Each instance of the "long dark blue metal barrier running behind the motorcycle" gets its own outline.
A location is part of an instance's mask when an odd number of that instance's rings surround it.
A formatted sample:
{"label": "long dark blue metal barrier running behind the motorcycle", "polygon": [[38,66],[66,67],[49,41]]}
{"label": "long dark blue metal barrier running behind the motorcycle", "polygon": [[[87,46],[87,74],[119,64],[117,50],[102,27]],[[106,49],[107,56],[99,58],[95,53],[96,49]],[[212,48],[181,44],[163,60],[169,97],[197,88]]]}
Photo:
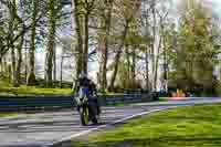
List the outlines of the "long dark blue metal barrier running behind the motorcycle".
{"label": "long dark blue metal barrier running behind the motorcycle", "polygon": [[[127,103],[150,102],[152,95],[98,95],[101,105],[115,105]],[[75,106],[74,96],[38,96],[38,97],[10,97],[0,96],[0,111],[32,109],[42,107],[73,107]]]}

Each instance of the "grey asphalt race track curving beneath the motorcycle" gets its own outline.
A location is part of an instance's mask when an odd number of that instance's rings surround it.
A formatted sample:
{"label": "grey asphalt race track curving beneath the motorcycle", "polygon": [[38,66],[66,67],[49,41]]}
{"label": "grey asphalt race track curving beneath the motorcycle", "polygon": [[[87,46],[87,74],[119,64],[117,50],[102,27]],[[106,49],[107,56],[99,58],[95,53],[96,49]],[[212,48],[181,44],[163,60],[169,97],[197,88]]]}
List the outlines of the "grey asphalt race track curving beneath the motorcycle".
{"label": "grey asphalt race track curving beneath the motorcycle", "polygon": [[[189,98],[157,103],[134,104],[119,107],[103,107],[101,125],[83,127],[75,111],[39,113],[14,118],[0,119],[0,147],[49,147],[61,140],[84,135],[99,126],[124,120],[131,116],[166,108],[221,103],[221,98]],[[87,132],[90,130],[90,132]]]}

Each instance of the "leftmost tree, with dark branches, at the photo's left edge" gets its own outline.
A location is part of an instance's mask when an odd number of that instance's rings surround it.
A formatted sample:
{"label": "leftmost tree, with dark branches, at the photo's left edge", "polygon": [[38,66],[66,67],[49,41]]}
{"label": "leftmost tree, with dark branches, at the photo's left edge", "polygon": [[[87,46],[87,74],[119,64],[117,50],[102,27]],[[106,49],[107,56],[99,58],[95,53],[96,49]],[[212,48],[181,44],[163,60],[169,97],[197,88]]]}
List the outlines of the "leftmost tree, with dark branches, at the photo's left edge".
{"label": "leftmost tree, with dark branches, at the photo's left edge", "polygon": [[20,84],[20,73],[21,73],[21,62],[22,62],[21,50],[23,45],[23,36],[24,36],[23,32],[25,28],[23,20],[19,15],[19,7],[18,7],[19,2],[20,1],[15,0],[1,1],[1,3],[4,4],[6,9],[8,10],[9,14],[9,19],[7,19],[8,21],[2,22],[7,29],[4,29],[3,31],[4,38],[2,38],[1,57],[3,57],[10,50],[11,63],[12,63],[11,78],[12,78],[12,85],[14,86],[19,86]]}

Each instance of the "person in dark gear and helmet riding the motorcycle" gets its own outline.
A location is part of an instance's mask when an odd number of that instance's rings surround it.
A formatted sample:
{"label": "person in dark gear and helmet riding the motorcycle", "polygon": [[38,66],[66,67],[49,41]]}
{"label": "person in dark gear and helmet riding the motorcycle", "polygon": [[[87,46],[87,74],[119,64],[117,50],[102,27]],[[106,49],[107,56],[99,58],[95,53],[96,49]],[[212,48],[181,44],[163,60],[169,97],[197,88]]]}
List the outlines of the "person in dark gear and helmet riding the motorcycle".
{"label": "person in dark gear and helmet riding the motorcycle", "polygon": [[98,99],[96,95],[96,84],[93,81],[91,81],[84,72],[80,74],[80,77],[77,80],[77,86],[76,86],[76,92],[78,93],[78,96],[76,97],[77,111],[80,111],[80,104],[81,104],[80,99],[84,96],[83,95],[84,93],[82,92],[83,87],[88,88],[90,91],[88,98],[91,98],[95,103],[98,115],[99,115],[101,108],[99,108],[99,104],[98,104]]}

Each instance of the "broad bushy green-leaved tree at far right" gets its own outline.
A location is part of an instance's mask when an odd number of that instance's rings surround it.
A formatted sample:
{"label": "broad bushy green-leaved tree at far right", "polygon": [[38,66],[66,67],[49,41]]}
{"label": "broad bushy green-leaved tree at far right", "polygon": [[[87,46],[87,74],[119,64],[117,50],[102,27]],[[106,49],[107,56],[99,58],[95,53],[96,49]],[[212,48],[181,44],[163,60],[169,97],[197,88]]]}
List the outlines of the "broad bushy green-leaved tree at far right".
{"label": "broad bushy green-leaved tree at far right", "polygon": [[[188,1],[178,31],[178,48],[173,65],[178,87],[193,90],[201,86],[204,93],[212,88],[217,49],[209,11],[194,0]],[[206,13],[207,12],[207,13]]]}

